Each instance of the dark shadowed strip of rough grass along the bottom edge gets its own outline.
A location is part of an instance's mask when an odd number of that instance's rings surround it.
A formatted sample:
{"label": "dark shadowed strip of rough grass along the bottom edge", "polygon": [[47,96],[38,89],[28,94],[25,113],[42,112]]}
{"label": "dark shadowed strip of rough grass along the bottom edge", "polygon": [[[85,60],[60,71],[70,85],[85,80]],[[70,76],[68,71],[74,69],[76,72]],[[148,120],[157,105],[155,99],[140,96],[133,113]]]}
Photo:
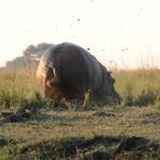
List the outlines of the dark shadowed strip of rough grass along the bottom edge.
{"label": "dark shadowed strip of rough grass along the bottom edge", "polygon": [[144,137],[82,136],[43,139],[31,144],[6,144],[0,157],[15,159],[159,159],[160,144]]}

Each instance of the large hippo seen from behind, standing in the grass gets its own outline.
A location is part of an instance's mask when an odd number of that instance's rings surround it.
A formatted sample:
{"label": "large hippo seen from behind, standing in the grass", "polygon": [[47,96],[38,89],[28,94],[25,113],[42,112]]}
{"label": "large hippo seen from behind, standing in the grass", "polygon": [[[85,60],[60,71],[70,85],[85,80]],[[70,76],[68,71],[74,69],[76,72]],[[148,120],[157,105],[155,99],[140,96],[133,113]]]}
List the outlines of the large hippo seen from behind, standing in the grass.
{"label": "large hippo seen from behind, standing in the grass", "polygon": [[82,106],[89,99],[120,104],[110,71],[85,49],[63,42],[49,48],[42,55],[37,80],[43,95],[59,104],[75,99]]}

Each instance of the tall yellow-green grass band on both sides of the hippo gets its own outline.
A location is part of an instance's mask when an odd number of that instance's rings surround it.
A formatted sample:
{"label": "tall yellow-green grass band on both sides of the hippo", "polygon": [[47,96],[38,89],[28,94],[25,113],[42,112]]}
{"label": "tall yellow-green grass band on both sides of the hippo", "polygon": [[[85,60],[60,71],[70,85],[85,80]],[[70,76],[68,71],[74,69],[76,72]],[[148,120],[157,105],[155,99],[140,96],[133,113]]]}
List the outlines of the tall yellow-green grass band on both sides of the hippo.
{"label": "tall yellow-green grass band on both sides of the hippo", "polygon": [[[116,90],[124,106],[160,105],[160,70],[114,70]],[[0,71],[0,108],[21,105],[45,106],[40,96],[34,70]]]}

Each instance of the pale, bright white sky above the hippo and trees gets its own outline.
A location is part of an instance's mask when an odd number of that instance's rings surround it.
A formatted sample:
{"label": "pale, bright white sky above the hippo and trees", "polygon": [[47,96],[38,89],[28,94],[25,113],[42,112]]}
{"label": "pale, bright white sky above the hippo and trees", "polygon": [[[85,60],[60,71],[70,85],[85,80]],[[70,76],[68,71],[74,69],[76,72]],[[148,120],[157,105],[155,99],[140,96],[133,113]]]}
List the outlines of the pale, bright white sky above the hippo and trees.
{"label": "pale, bright white sky above the hippo and trees", "polygon": [[160,67],[160,1],[0,0],[0,66],[30,44],[65,41],[108,67]]}

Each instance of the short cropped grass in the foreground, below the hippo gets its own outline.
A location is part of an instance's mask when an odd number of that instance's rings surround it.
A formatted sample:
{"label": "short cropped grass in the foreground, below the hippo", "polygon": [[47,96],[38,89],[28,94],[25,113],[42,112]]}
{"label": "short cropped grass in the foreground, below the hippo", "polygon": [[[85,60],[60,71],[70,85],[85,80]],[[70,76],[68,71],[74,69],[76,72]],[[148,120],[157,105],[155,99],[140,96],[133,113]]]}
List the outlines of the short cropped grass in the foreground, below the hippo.
{"label": "short cropped grass in the foreground, below the hippo", "polygon": [[[111,112],[114,116],[101,116]],[[111,159],[124,137],[136,136],[130,151],[116,156],[158,159],[160,154],[158,107],[104,107],[88,111],[46,110],[19,123],[2,123],[0,136],[10,141],[1,147],[4,159]],[[143,143],[145,139],[145,143]],[[138,141],[138,142],[139,142]],[[13,142],[15,142],[13,144]]]}

